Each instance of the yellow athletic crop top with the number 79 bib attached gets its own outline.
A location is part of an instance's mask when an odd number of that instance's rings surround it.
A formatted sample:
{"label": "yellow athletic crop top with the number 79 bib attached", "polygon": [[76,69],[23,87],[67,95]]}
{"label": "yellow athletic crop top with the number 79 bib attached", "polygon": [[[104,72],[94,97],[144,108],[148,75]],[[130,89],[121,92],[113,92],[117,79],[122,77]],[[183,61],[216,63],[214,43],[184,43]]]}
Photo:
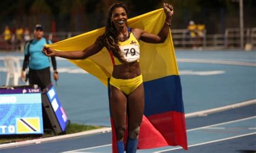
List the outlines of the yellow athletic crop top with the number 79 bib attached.
{"label": "yellow athletic crop top with the number 79 bib attached", "polygon": [[[130,32],[129,39],[118,42],[120,50],[127,62],[139,61],[139,41]],[[113,65],[123,64],[118,58],[114,57],[112,51],[109,52]]]}

